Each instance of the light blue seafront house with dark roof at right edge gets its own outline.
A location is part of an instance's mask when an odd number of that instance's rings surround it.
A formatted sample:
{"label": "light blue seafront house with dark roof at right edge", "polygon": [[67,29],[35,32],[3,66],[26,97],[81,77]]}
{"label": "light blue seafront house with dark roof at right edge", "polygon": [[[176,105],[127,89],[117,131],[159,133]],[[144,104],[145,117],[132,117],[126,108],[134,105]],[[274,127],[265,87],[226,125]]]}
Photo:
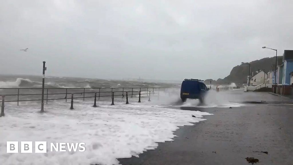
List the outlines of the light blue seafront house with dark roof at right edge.
{"label": "light blue seafront house with dark roof at right edge", "polygon": [[291,84],[291,73],[293,72],[293,50],[284,50],[283,63],[277,68],[277,83]]}

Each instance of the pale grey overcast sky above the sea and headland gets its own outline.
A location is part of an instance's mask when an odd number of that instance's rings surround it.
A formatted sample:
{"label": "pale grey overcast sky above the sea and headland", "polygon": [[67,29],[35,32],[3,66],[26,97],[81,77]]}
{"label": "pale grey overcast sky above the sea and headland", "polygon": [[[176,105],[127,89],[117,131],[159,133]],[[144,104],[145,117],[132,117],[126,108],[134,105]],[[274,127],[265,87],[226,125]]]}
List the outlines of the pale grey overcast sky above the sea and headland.
{"label": "pale grey overcast sky above the sea and headland", "polygon": [[0,74],[218,79],[293,49],[291,0],[0,3]]}

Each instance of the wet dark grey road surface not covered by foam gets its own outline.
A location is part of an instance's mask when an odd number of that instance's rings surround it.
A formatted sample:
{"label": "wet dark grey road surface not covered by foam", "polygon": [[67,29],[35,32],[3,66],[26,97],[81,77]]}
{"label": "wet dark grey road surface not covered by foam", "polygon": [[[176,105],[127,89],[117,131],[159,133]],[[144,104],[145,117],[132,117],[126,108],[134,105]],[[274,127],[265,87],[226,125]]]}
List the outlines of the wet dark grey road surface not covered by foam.
{"label": "wet dark grey road surface not covered by foam", "polygon": [[[243,91],[242,91],[243,92]],[[265,92],[241,94],[242,100],[287,101]],[[240,98],[240,97],[239,97]],[[233,101],[237,101],[233,97]],[[256,100],[256,99],[255,99]],[[205,121],[180,127],[172,142],[159,143],[155,150],[119,159],[123,165],[248,164],[246,157],[259,159],[257,164],[293,165],[293,105],[245,104],[232,108],[173,107],[209,112]],[[267,151],[268,154],[254,151]]]}

